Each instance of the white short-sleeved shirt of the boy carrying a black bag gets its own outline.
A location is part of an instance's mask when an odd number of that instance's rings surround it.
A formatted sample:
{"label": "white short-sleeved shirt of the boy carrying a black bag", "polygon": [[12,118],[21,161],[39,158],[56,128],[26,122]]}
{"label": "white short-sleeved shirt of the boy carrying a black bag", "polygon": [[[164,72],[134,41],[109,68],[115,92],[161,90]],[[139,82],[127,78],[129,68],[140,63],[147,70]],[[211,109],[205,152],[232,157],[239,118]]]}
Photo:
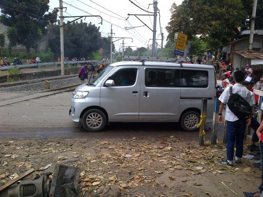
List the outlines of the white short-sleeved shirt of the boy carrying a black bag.
{"label": "white short-sleeved shirt of the boy carrying a black bag", "polygon": [[[245,88],[242,84],[235,84],[232,90],[233,94],[239,94],[244,98],[244,100],[247,103],[249,103],[250,106],[253,106],[253,101],[255,101],[255,98],[253,99],[250,92],[251,91],[247,90],[247,88]],[[227,87],[219,97],[219,100],[222,103],[226,104],[229,96],[230,96],[230,87]],[[225,120],[230,122],[239,120],[239,118],[228,108],[227,104],[225,108]]]}

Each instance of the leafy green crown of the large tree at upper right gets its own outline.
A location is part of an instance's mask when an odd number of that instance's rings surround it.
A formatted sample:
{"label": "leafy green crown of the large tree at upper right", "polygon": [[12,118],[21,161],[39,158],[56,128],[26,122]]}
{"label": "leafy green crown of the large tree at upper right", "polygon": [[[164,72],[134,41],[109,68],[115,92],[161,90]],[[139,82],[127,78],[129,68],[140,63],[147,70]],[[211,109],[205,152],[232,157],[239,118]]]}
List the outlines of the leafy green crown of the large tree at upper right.
{"label": "leafy green crown of the large tree at upper right", "polygon": [[[183,32],[188,39],[196,35],[206,40],[209,47],[231,41],[238,33],[237,27],[247,28],[248,9],[244,10],[244,2],[251,5],[253,0],[183,0],[181,5],[173,3],[171,18],[166,27],[169,39],[174,33]],[[262,4],[262,3],[260,3]],[[246,11],[247,10],[247,11]],[[252,10],[252,9],[251,9]]]}

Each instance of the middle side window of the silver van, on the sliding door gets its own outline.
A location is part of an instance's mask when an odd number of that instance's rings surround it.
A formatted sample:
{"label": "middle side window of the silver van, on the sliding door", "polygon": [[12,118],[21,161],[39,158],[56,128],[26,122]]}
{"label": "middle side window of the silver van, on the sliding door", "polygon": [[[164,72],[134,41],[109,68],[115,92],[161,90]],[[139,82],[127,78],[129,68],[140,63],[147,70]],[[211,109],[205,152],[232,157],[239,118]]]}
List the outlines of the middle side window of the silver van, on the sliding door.
{"label": "middle side window of the silver van, on the sliding door", "polygon": [[146,87],[175,88],[180,84],[180,71],[175,69],[145,69]]}

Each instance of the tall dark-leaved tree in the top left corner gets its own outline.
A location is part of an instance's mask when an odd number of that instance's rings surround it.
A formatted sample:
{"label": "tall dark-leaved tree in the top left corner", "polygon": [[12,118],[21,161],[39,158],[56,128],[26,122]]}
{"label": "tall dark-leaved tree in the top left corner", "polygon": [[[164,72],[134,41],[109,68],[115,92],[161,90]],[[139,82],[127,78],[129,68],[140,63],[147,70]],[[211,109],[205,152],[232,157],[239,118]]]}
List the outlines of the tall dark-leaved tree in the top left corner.
{"label": "tall dark-leaved tree in the top left corner", "polygon": [[48,3],[49,0],[1,0],[0,22],[12,28],[7,37],[13,44],[24,46],[27,54],[30,48],[37,50],[47,25],[56,22],[57,10],[48,12]]}

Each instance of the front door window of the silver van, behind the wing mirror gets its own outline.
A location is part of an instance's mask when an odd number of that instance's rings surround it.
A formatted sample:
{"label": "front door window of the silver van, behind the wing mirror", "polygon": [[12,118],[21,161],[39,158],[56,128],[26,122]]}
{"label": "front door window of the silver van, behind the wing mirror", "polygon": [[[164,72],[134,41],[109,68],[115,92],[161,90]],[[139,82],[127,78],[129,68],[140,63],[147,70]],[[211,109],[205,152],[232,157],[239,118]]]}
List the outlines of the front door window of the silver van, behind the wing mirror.
{"label": "front door window of the silver van, behind the wing mirror", "polygon": [[137,77],[137,69],[136,68],[126,68],[120,69],[115,72],[108,79],[114,81],[114,86],[132,86],[135,84]]}

